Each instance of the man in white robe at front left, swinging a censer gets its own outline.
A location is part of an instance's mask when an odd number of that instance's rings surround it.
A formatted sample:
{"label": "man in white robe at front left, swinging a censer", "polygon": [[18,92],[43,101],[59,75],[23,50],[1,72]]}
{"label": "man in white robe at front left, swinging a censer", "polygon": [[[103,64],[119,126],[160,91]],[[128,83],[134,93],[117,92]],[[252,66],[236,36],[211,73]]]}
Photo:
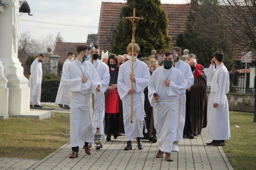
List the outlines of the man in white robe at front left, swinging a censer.
{"label": "man in white robe at front left, swinging a censer", "polygon": [[63,71],[61,82],[72,92],[70,99],[70,158],[78,157],[80,146],[85,145],[85,153],[90,155],[89,143],[94,142],[94,125],[92,120],[91,93],[100,93],[100,76],[91,62],[91,47],[79,45],[76,48],[78,57],[70,62]]}

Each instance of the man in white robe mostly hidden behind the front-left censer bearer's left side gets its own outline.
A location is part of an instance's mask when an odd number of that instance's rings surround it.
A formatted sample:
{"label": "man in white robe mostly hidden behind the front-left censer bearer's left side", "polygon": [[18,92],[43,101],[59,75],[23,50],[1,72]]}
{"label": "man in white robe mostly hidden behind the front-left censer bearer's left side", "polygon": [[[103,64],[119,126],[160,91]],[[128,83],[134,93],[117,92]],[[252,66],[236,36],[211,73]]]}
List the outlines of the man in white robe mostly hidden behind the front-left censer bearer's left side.
{"label": "man in white robe mostly hidden behind the front-left censer bearer's left side", "polygon": [[[73,61],[75,59],[75,55],[73,52],[69,52],[68,53],[68,58],[67,60],[64,62],[63,66],[62,66],[62,72],[63,70],[68,66],[68,64]],[[61,76],[62,77],[62,76]],[[59,107],[61,107],[62,109],[70,109],[69,105],[70,105],[70,99],[67,97],[68,95],[68,89],[65,88],[61,81],[59,83],[59,89],[58,89],[58,93],[56,96],[56,100],[55,100],[55,105],[58,105]],[[63,106],[64,105],[64,106]]]}

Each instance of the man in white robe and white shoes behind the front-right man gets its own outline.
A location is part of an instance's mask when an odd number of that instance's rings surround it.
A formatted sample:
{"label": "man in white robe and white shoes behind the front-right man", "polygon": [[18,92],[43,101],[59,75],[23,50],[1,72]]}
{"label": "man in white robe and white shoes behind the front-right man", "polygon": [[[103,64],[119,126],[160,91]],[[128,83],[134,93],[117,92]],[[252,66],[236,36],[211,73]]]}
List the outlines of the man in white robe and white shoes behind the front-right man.
{"label": "man in white robe and white shoes behind the front-right man", "polygon": [[[177,61],[175,62],[175,68],[181,71],[181,73],[184,75],[184,77],[187,80],[187,87],[186,89],[190,88],[194,84],[194,76],[191,71],[190,66],[182,61],[180,59],[181,57],[181,48],[180,47],[172,47],[171,51],[175,50],[178,58]],[[179,128],[176,133],[176,138],[173,142],[172,145],[172,151],[173,152],[179,152],[179,142],[182,141],[183,139],[183,129],[185,126],[185,118],[186,118],[186,89],[184,92],[179,96]]]}

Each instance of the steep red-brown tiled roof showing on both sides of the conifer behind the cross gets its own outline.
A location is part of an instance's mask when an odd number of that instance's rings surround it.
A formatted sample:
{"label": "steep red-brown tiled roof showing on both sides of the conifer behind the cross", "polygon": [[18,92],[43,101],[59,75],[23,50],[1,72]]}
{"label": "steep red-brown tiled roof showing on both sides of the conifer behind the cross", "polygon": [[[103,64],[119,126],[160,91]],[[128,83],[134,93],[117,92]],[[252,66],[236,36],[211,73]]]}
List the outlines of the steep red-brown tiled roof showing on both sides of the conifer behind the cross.
{"label": "steep red-brown tiled roof showing on both sides of the conifer behind the cross", "polygon": [[[120,13],[126,3],[102,2],[99,22],[99,46],[104,51],[111,51],[113,29],[118,25]],[[172,37],[172,45],[176,43],[176,37],[186,29],[186,21],[190,4],[162,4],[169,19],[168,34]],[[111,16],[111,17],[110,17]]]}

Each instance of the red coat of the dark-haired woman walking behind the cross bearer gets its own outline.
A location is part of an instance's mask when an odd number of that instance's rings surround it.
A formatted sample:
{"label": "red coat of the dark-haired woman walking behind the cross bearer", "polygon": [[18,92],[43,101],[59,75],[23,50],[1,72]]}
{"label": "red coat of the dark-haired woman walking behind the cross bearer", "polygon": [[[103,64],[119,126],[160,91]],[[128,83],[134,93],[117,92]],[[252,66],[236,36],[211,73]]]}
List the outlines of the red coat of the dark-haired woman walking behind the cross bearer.
{"label": "red coat of the dark-haired woman walking behind the cross bearer", "polygon": [[[109,68],[110,72],[116,72]],[[118,72],[118,70],[117,70]],[[105,113],[119,113],[119,95],[117,88],[115,90],[108,90],[106,96]]]}

